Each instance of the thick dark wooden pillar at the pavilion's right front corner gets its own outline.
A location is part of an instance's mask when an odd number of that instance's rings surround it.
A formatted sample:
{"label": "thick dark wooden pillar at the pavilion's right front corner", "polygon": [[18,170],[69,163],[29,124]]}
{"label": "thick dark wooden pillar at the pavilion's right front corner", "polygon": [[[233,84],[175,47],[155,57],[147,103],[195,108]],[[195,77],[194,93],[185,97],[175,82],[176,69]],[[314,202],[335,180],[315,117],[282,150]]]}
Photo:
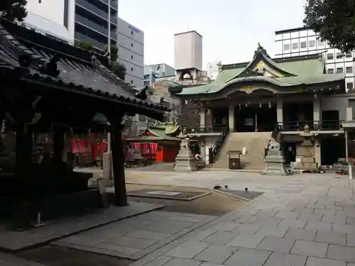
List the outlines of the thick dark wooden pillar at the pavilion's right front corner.
{"label": "thick dark wooden pillar at the pavilion's right front corner", "polygon": [[[116,120],[119,120],[116,118]],[[127,206],[126,178],[124,176],[124,145],[121,138],[123,125],[112,125],[111,150],[114,172],[114,198],[116,206]]]}

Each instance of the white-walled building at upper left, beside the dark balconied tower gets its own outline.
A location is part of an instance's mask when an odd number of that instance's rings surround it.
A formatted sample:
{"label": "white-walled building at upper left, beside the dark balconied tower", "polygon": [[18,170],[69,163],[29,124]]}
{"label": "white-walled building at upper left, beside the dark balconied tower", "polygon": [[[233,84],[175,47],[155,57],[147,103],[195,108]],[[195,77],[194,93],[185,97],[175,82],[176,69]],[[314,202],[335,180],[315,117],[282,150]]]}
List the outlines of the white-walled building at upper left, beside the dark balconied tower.
{"label": "white-walled building at upper left, beside the dark balconied tower", "polygon": [[75,0],[28,0],[24,26],[74,43]]}

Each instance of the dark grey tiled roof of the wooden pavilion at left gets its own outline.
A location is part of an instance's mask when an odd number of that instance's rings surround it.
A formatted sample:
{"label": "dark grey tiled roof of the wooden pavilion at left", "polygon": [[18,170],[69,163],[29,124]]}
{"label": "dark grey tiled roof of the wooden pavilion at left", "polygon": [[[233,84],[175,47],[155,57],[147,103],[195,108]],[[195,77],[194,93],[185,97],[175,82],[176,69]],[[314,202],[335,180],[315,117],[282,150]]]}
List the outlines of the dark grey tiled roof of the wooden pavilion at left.
{"label": "dark grey tiled roof of the wooden pavilion at left", "polygon": [[[28,55],[32,60],[31,71],[28,75],[33,79],[57,83],[62,86],[82,90],[82,92],[106,96],[109,99],[118,99],[128,104],[145,106],[146,108],[153,109],[152,111],[168,111],[168,109],[160,104],[153,104],[149,100],[142,101],[136,98],[133,94],[134,90],[126,89],[127,85],[102,64],[97,57],[93,55],[87,56],[90,53],[89,51],[70,47],[70,50],[77,49],[80,51],[77,53],[77,57],[65,52],[58,52],[48,45],[50,41],[53,42],[55,40],[45,37],[48,43],[43,43],[43,40],[38,43],[36,38],[28,39],[28,36],[31,35],[28,31],[33,36],[40,34],[18,26],[15,23],[9,23],[9,21],[0,21],[0,67],[19,67],[18,57]],[[38,38],[43,38],[43,36]],[[68,44],[57,41],[56,45]],[[60,60],[56,64],[60,71],[58,77],[41,74],[40,67],[55,55],[60,55]]]}

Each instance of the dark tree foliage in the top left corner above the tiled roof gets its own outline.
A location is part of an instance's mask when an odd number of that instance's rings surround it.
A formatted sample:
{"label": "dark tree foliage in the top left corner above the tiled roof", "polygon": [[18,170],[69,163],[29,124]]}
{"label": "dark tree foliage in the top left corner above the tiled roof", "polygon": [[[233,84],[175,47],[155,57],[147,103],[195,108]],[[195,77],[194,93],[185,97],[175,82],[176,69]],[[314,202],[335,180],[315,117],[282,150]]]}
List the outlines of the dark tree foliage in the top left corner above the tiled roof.
{"label": "dark tree foliage in the top left corner above the tiled roof", "polygon": [[27,0],[0,0],[0,18],[23,21],[27,16]]}

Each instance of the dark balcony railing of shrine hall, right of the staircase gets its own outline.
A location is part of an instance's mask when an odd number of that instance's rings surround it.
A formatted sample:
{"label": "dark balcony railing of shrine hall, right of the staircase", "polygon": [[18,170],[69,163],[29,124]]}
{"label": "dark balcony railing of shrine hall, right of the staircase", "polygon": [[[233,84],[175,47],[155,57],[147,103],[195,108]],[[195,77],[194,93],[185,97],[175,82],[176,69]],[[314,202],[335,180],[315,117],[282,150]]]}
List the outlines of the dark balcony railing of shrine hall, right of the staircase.
{"label": "dark balcony railing of shrine hall, right of the staircase", "polygon": [[342,129],[341,120],[287,121],[278,123],[281,131],[304,131],[305,125],[310,127],[310,131],[339,131]]}

